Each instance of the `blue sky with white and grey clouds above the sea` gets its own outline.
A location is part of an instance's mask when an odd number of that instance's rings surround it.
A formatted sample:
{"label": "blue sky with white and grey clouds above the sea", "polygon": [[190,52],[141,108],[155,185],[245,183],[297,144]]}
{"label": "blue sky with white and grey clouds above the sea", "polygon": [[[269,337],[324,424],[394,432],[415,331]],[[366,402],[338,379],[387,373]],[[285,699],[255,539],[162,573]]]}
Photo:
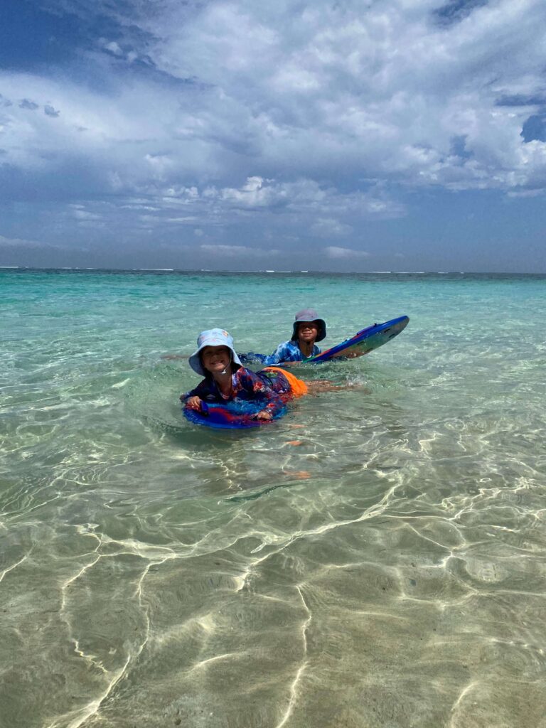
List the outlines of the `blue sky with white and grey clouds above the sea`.
{"label": "blue sky with white and grey clouds above the sea", "polygon": [[0,264],[546,272],[544,0],[17,0]]}

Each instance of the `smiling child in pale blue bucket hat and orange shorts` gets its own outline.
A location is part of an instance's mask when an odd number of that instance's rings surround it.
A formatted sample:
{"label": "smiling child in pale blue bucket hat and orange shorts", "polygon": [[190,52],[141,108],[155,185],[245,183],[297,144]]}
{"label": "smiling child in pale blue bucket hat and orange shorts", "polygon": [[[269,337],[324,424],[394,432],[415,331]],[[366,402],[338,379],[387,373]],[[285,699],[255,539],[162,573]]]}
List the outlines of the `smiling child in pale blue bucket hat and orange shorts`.
{"label": "smiling child in pale blue bucket hat and orange shorts", "polygon": [[233,348],[233,338],[221,328],[202,331],[189,365],[205,377],[197,387],[181,396],[190,409],[200,410],[202,402],[225,403],[235,397],[264,400],[264,409],[256,419],[272,419],[286,400],[307,391],[306,384],[293,374],[266,368],[256,374],[242,366]]}

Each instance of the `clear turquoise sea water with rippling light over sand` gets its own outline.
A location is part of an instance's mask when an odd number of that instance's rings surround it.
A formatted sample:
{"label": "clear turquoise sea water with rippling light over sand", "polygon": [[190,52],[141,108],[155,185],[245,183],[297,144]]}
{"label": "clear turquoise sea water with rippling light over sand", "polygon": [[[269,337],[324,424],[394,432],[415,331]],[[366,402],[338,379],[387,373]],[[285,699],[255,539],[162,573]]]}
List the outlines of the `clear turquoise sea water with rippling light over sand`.
{"label": "clear turquoise sea water with rippling light over sand", "polygon": [[[0,272],[0,724],[537,728],[546,277]],[[192,427],[314,306],[357,389]]]}

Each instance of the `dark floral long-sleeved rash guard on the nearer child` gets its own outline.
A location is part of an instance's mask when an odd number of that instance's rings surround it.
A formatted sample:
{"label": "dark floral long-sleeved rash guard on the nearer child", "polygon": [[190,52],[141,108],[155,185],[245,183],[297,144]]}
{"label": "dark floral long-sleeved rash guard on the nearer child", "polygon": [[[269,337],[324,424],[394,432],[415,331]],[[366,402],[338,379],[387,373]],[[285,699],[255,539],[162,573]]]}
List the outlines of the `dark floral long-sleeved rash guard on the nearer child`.
{"label": "dark floral long-sleeved rash guard on the nearer child", "polygon": [[224,397],[212,376],[205,377],[197,387],[182,395],[181,400],[189,397],[199,397],[204,402],[219,404],[232,402],[234,399],[263,400],[264,410],[273,415],[290,398],[290,384],[280,372],[255,374],[241,366],[232,373],[232,394],[229,397]]}

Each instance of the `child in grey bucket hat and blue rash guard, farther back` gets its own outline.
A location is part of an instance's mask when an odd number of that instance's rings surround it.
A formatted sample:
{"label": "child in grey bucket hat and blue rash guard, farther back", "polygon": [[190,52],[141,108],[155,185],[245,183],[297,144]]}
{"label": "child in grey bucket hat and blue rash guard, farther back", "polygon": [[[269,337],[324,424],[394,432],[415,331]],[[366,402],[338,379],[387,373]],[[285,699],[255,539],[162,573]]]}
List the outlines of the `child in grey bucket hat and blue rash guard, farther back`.
{"label": "child in grey bucket hat and blue rash guard, farther back", "polygon": [[279,344],[277,349],[266,356],[249,352],[243,357],[244,362],[258,361],[268,366],[281,362],[304,362],[309,357],[320,354],[320,347],[315,341],[326,338],[326,323],[314,309],[301,309],[294,317],[290,341]]}

